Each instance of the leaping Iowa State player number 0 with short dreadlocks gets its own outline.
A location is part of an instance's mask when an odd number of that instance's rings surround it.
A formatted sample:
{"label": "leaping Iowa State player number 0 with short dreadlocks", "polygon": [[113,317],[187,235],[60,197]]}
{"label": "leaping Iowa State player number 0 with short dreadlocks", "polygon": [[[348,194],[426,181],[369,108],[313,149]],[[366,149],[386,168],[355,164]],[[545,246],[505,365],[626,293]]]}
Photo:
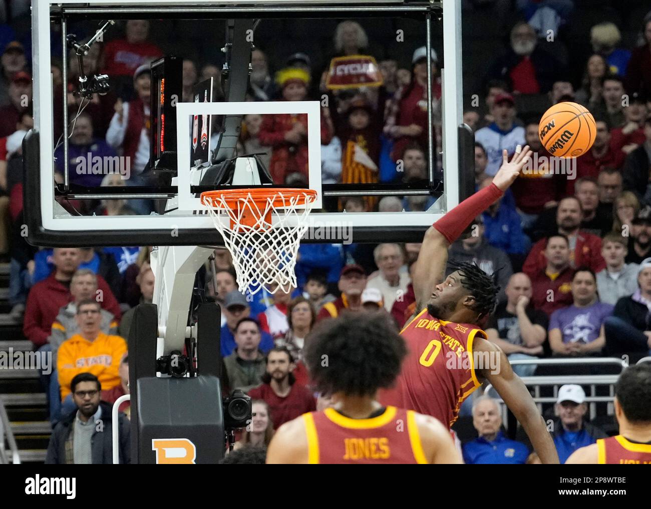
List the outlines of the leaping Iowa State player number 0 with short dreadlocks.
{"label": "leaping Iowa State player number 0 with short dreadlocks", "polygon": [[520,149],[511,161],[503,151],[503,164],[493,183],[426,231],[414,267],[416,312],[401,332],[409,354],[395,387],[382,391],[378,400],[433,415],[452,426],[465,398],[488,380],[522,424],[540,460],[558,463],[554,443],[527,387],[479,326],[497,304],[499,287],[493,276],[474,263],[457,263],[456,270],[443,277],[450,244],[504,194],[529,160],[529,147]]}

